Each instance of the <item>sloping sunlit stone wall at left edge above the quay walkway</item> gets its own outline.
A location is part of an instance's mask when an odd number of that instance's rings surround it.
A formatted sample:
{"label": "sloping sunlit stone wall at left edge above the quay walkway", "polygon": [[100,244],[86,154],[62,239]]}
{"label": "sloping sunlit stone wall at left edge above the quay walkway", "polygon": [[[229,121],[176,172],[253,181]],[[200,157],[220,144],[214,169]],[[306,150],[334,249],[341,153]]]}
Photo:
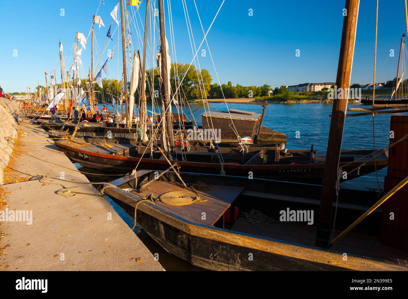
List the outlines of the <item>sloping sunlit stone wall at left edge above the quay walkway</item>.
{"label": "sloping sunlit stone wall at left edge above the quay walkway", "polygon": [[18,110],[17,101],[0,98],[0,184],[4,182],[3,169],[9,164],[17,137],[17,123],[11,111]]}

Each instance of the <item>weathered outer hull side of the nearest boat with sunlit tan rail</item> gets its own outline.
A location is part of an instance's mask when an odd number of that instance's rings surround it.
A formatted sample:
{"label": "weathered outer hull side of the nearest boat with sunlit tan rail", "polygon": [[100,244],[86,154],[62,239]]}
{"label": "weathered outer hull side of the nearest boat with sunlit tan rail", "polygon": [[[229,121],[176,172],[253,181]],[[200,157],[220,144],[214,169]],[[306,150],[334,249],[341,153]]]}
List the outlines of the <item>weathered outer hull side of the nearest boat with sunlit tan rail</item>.
{"label": "weathered outer hull side of the nearest boat with sunlit tan rail", "polygon": [[[130,180],[111,183],[128,188]],[[104,193],[134,217],[141,198],[114,188]],[[192,223],[150,203],[137,206],[137,223],[172,255],[208,270],[406,270],[351,253],[344,262],[343,252]]]}

